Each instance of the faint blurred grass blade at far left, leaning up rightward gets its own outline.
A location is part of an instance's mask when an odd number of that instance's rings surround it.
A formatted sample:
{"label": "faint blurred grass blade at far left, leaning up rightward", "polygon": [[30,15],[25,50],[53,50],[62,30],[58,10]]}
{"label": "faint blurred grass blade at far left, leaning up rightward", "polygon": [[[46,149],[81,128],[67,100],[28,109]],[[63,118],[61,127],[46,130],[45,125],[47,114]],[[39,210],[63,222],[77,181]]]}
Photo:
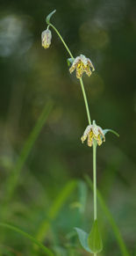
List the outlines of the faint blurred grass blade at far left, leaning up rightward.
{"label": "faint blurred grass blade at far left, leaning up rightward", "polygon": [[5,191],[4,191],[4,194],[5,194],[4,202],[9,201],[11,199],[11,196],[14,193],[18,184],[18,177],[19,177],[20,171],[23,165],[25,165],[25,161],[32,150],[33,144],[35,143],[41,129],[43,128],[45,122],[47,121],[47,117],[51,112],[52,108],[53,108],[53,102],[48,101],[42,113],[39,116],[39,120],[35,124],[35,127],[32,129],[31,134],[26,140],[24,148],[21,151],[20,156],[18,157],[17,164],[15,165],[14,169],[11,171],[11,176],[7,179],[7,182],[5,185]]}

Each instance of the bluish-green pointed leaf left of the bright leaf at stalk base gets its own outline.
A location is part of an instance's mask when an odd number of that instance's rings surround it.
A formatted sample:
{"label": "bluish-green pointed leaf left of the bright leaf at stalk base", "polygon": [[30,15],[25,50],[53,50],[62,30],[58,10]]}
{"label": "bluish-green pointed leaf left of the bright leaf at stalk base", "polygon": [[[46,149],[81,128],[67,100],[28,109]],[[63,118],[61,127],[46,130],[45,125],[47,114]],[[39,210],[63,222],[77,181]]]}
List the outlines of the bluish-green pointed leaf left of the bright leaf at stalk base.
{"label": "bluish-green pointed leaf left of the bright leaf at stalk base", "polygon": [[78,228],[75,228],[77,234],[78,234],[78,238],[81,242],[81,245],[82,247],[87,251],[87,252],[90,252],[92,253],[92,251],[89,249],[89,245],[88,245],[88,237],[89,237],[89,234],[86,233],[85,231],[81,230],[81,229],[78,229]]}

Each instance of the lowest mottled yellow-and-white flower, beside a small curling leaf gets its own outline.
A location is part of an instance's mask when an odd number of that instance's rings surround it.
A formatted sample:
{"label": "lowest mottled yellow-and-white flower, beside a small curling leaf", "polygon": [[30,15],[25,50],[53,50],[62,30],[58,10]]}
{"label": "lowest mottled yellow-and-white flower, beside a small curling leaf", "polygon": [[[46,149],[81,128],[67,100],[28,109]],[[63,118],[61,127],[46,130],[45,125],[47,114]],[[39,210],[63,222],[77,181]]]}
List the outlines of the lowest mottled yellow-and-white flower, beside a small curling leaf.
{"label": "lowest mottled yellow-and-white flower, beside a small curling leaf", "polygon": [[89,125],[83,135],[82,135],[82,143],[88,138],[88,146],[91,147],[93,141],[96,140],[97,144],[100,146],[103,142],[105,142],[105,136],[103,129],[97,126],[96,122],[93,121],[92,125]]}

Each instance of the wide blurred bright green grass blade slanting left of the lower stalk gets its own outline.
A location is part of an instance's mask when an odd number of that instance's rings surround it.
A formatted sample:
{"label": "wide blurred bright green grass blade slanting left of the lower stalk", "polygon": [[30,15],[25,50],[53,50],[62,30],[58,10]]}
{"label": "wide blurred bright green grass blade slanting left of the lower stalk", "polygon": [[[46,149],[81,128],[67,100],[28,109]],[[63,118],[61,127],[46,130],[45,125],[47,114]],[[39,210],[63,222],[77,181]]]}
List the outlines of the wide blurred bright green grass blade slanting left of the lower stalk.
{"label": "wide blurred bright green grass blade slanting left of the lower stalk", "polygon": [[50,227],[50,223],[56,218],[59,214],[62,206],[64,205],[65,201],[68,199],[68,196],[74,191],[75,187],[77,186],[76,180],[69,181],[65,187],[61,190],[61,193],[58,194],[56,199],[54,200],[53,205],[47,212],[46,219],[40,223],[39,230],[37,232],[36,238],[42,242],[44,238],[46,238],[47,230]]}

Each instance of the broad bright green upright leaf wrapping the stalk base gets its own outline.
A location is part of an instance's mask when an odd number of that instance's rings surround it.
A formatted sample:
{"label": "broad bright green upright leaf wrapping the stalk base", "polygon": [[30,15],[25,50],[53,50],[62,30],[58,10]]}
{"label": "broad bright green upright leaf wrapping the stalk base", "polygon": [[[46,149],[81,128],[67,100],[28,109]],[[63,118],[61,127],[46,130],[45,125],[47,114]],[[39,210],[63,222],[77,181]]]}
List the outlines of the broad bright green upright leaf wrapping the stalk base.
{"label": "broad bright green upright leaf wrapping the stalk base", "polygon": [[102,238],[98,229],[97,220],[93,223],[92,229],[88,237],[89,249],[93,253],[101,252],[103,250]]}

